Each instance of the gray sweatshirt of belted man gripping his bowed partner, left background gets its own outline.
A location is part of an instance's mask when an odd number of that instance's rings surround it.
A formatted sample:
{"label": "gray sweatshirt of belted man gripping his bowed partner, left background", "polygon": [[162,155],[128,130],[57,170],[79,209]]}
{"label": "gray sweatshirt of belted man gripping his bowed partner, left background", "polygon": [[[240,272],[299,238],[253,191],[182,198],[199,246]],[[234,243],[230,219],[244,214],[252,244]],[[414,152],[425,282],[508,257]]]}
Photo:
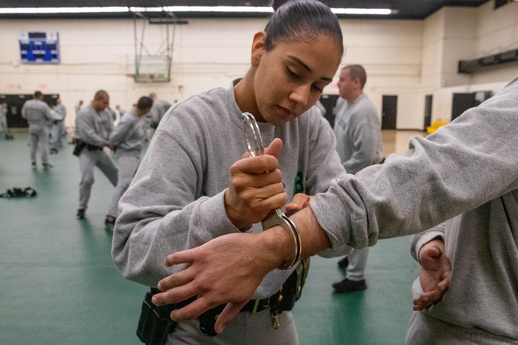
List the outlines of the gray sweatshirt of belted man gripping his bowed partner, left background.
{"label": "gray sweatshirt of belted man gripping his bowed partner, left background", "polygon": [[113,131],[111,112],[108,108],[97,112],[91,104],[82,107],[76,118],[76,130],[79,138],[90,145],[109,145],[109,137]]}

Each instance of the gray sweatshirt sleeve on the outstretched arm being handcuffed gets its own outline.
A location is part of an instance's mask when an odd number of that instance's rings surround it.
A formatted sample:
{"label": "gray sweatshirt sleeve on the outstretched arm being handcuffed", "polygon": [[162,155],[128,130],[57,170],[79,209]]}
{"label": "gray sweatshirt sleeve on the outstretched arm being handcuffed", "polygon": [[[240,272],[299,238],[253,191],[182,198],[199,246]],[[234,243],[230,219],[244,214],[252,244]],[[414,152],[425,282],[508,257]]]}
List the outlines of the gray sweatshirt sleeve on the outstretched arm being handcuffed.
{"label": "gray sweatshirt sleeve on the outstretched arm being handcuffed", "polygon": [[404,155],[334,181],[311,203],[332,247],[415,234],[518,188],[516,79]]}

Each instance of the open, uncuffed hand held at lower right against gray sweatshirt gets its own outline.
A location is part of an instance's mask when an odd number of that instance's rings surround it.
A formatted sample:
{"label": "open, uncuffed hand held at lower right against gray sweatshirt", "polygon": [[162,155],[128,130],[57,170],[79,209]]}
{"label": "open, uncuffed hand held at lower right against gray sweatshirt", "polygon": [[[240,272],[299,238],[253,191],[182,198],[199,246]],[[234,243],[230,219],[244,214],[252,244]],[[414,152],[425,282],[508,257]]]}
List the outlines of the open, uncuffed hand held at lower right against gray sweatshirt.
{"label": "open, uncuffed hand held at lower right against gray sweatshirt", "polygon": [[419,279],[423,294],[414,299],[414,310],[424,310],[441,300],[448,285],[452,267],[450,260],[444,254],[444,242],[432,240],[419,251],[421,272]]}

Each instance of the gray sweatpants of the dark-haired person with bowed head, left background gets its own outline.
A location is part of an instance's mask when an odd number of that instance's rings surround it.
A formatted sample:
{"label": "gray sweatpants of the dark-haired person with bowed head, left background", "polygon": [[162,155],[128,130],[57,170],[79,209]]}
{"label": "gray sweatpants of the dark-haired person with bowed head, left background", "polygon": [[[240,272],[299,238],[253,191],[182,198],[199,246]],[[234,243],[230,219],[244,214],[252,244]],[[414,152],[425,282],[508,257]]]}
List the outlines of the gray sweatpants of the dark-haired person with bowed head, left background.
{"label": "gray sweatpants of the dark-haired person with bowed head, left background", "polygon": [[137,172],[138,165],[140,164],[140,157],[131,153],[116,153],[118,181],[113,195],[111,197],[110,208],[108,214],[114,218],[119,217],[119,200],[124,192],[130,186],[135,172]]}

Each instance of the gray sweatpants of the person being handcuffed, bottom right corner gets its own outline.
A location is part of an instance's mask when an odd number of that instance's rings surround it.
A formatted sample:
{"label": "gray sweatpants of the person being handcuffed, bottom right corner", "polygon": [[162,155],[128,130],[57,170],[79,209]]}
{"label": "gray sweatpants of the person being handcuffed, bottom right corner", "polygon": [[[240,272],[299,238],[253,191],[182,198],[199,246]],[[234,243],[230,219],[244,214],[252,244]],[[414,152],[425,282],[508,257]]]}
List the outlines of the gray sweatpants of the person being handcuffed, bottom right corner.
{"label": "gray sweatpants of the person being handcuffed, bottom right corner", "polygon": [[407,345],[509,345],[515,339],[498,336],[480,328],[467,328],[414,311],[407,330]]}

